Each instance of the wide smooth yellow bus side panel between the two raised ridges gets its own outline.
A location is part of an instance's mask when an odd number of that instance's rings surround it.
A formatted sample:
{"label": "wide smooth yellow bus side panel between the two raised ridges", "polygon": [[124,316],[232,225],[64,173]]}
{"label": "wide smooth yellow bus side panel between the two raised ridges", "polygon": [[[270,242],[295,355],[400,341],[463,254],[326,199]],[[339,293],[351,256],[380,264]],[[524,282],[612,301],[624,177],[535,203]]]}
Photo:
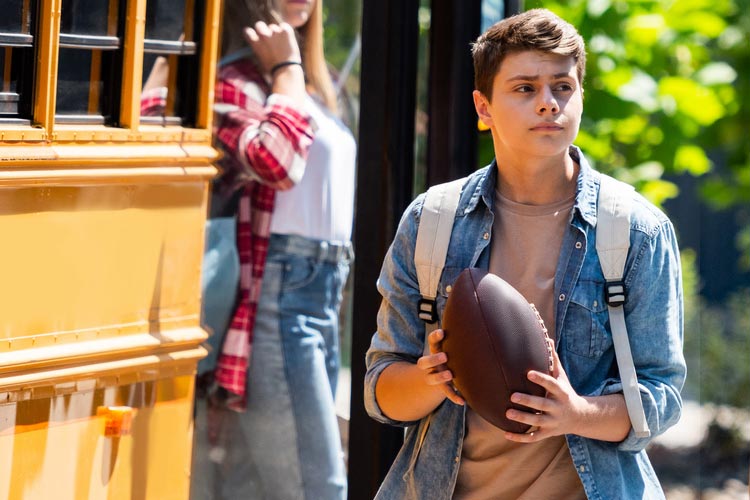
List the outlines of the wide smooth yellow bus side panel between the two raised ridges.
{"label": "wide smooth yellow bus side panel between the two raised ridges", "polygon": [[0,339],[200,312],[206,185],[6,188]]}

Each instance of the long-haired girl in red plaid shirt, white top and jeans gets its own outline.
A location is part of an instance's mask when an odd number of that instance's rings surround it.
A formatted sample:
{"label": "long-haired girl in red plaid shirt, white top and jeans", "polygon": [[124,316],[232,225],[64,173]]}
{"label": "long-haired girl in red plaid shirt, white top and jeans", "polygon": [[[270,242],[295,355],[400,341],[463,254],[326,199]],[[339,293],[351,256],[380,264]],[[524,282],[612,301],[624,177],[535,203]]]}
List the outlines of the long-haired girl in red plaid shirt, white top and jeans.
{"label": "long-haired girl in red plaid shirt, white top and jeans", "polygon": [[209,398],[216,490],[344,499],[334,395],[356,146],[337,117],[321,0],[228,0],[223,34],[217,190],[242,193],[241,278]]}

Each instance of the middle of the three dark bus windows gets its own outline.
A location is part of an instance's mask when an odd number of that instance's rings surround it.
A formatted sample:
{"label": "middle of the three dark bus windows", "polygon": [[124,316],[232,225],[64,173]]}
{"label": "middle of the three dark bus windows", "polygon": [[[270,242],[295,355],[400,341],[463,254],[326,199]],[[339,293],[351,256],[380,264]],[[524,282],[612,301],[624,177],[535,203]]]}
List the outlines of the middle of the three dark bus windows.
{"label": "middle of the three dark bus windows", "polygon": [[118,0],[63,0],[57,123],[111,124],[113,81],[121,66]]}

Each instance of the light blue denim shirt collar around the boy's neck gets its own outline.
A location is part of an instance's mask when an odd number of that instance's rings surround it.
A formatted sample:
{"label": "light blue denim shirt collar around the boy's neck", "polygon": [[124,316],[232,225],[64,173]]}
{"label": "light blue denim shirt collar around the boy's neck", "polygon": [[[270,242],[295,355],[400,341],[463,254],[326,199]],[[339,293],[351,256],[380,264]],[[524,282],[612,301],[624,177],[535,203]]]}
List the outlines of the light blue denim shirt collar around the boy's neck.
{"label": "light blue denim shirt collar around the boy's neck", "polygon": [[[578,146],[571,145],[569,154],[580,166],[578,179],[576,180],[576,200],[573,205],[573,213],[577,213],[591,227],[596,227],[596,200],[599,193],[598,175],[591,168]],[[492,210],[495,202],[496,184],[497,160],[492,160],[492,163],[487,167],[484,178],[477,183],[474,193],[466,202],[463,212],[468,213],[475,210],[479,200],[484,201],[487,208]]]}

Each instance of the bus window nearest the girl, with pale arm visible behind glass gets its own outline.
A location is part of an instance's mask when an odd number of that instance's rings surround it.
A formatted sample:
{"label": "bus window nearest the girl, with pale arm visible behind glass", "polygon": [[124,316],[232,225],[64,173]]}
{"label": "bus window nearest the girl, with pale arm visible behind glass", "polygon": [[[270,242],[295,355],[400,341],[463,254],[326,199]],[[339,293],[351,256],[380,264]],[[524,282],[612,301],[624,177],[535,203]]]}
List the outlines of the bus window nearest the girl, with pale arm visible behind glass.
{"label": "bus window nearest the girl, with pale arm visible behind glass", "polygon": [[149,0],[146,5],[141,123],[194,124],[195,10],[193,0]]}

